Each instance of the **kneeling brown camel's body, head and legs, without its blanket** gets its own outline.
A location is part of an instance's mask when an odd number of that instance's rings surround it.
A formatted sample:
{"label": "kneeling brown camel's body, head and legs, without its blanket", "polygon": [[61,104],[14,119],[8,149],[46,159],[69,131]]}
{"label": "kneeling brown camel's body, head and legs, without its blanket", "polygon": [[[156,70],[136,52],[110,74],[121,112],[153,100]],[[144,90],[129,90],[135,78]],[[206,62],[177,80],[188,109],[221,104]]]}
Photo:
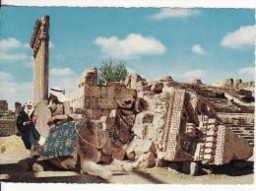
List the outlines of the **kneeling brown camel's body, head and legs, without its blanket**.
{"label": "kneeling brown camel's body, head and legs, without its blanket", "polygon": [[[113,159],[112,155],[133,139],[131,129],[136,114],[148,105],[141,97],[116,101],[118,107],[109,116],[102,116],[100,120],[82,119],[82,126],[77,131],[76,155],[49,161],[58,167],[88,173],[104,180],[111,179],[112,171],[131,171],[131,164]],[[43,162],[33,162],[33,171],[43,171]]]}

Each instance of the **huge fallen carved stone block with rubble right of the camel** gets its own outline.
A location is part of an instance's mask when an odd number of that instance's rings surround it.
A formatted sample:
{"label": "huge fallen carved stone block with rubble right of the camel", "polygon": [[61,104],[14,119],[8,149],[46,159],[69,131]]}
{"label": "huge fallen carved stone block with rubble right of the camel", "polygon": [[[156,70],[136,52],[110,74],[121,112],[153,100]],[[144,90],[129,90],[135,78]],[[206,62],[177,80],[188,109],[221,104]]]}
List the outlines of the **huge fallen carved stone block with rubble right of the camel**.
{"label": "huge fallen carved stone block with rubble right of the camel", "polygon": [[136,138],[126,149],[126,157],[136,161],[136,167],[163,163],[160,160],[221,165],[253,155],[249,143],[223,125],[206,98],[175,85],[171,77],[147,83],[139,75],[126,82],[127,88],[136,89],[150,105],[137,115]]}

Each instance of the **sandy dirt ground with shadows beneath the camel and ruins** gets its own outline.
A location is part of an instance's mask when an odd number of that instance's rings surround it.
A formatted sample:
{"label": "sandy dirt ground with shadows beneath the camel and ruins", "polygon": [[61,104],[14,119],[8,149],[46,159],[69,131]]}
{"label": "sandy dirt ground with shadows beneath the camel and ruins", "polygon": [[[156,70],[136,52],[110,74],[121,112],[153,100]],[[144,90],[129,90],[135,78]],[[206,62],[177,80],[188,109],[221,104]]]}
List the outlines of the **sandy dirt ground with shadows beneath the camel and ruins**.
{"label": "sandy dirt ground with shadows beneath the camel and ruins", "polygon": [[[9,142],[6,140],[9,139]],[[18,137],[0,138],[0,181],[31,183],[105,183],[105,184],[253,184],[253,158],[223,166],[203,166],[205,173],[191,176],[169,167],[153,167],[133,172],[115,172],[110,181],[75,171],[32,172],[27,165],[30,152],[20,146]],[[10,141],[12,140],[12,141]],[[17,144],[17,142],[19,142]],[[16,149],[14,149],[14,143]],[[13,150],[11,151],[12,148]],[[208,173],[206,173],[208,172]]]}

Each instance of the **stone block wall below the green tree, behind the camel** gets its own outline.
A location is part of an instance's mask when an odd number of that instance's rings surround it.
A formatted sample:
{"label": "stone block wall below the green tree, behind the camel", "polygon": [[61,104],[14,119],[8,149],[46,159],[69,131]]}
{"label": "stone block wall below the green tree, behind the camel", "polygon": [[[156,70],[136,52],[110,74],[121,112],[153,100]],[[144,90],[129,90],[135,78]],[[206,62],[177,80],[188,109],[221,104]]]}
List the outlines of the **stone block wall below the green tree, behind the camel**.
{"label": "stone block wall below the green tree, behind the camel", "polygon": [[97,86],[96,68],[89,68],[79,79],[79,88],[66,96],[74,112],[82,110],[89,119],[99,119],[117,108],[116,99],[137,96],[137,92],[123,83],[106,82],[105,86]]}

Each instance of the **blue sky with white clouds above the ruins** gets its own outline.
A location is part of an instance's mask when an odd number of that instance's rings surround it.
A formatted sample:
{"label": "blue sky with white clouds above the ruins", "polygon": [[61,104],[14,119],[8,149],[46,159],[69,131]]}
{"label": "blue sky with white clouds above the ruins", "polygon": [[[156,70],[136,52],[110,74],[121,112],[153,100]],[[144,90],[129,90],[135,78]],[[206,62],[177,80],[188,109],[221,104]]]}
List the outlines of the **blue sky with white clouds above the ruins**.
{"label": "blue sky with white clouds above the ruins", "polygon": [[255,12],[250,9],[1,8],[0,99],[32,98],[36,19],[50,16],[49,84],[77,88],[82,72],[124,59],[147,80],[254,80]]}

